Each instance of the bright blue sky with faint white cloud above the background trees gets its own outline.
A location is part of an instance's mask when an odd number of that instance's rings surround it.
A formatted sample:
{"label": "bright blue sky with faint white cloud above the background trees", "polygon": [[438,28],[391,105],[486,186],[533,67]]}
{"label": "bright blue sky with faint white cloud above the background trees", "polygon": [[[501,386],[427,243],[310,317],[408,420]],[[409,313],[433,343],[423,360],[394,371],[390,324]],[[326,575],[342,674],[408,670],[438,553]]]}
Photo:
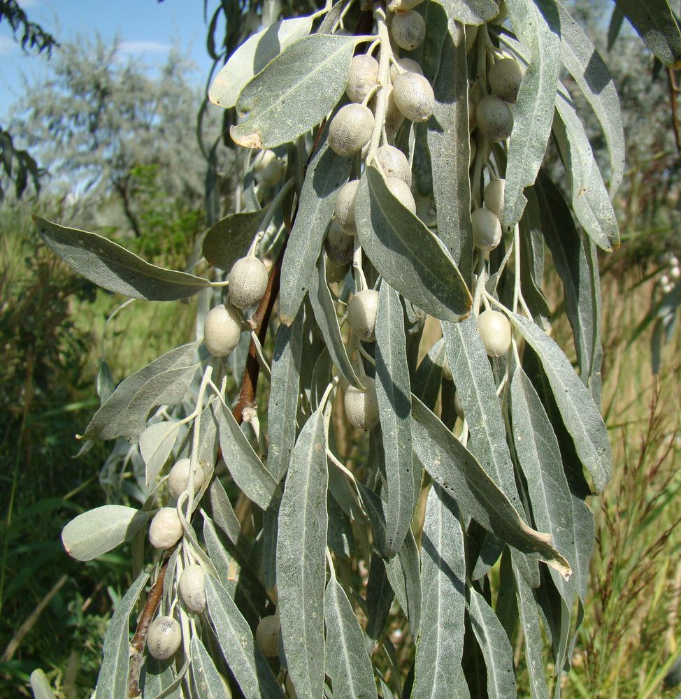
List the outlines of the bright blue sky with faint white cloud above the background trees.
{"label": "bright blue sky with faint white cloud above the background trees", "polygon": [[[202,0],[19,0],[29,20],[50,31],[57,41],[99,31],[104,38],[119,36],[124,57],[132,56],[153,68],[162,64],[176,43],[196,64],[192,77],[203,85],[210,59],[206,53],[206,23]],[[215,3],[208,3],[208,9]],[[210,17],[209,17],[210,19]],[[29,82],[47,74],[50,62],[22,52],[7,22],[0,23],[0,120],[21,98],[25,75]]]}

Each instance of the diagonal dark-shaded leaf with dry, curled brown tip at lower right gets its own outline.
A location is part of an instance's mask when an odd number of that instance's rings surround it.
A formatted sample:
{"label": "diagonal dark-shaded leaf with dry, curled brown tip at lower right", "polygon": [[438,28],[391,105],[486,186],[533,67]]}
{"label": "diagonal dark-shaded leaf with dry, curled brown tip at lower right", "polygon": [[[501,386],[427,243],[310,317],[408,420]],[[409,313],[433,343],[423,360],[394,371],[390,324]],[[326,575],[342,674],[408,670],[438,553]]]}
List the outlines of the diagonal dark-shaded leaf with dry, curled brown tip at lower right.
{"label": "diagonal dark-shaded leaf with dry, curled brown tip at lower right", "polygon": [[414,453],[433,480],[456,498],[463,514],[519,551],[537,552],[569,577],[570,566],[552,546],[550,534],[538,533],[525,524],[475,456],[416,396],[412,396],[412,410]]}

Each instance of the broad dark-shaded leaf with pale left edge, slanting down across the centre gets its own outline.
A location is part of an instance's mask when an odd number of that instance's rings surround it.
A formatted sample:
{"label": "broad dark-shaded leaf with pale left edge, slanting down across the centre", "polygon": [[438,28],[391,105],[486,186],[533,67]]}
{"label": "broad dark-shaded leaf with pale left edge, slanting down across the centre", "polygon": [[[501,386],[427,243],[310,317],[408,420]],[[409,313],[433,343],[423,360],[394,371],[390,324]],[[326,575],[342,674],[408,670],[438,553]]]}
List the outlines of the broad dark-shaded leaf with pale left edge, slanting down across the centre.
{"label": "broad dark-shaded leaf with pale left edge, slanting down across the centre", "polygon": [[449,252],[374,167],[366,168],[357,189],[355,219],[362,250],[391,287],[437,318],[468,316],[471,294]]}

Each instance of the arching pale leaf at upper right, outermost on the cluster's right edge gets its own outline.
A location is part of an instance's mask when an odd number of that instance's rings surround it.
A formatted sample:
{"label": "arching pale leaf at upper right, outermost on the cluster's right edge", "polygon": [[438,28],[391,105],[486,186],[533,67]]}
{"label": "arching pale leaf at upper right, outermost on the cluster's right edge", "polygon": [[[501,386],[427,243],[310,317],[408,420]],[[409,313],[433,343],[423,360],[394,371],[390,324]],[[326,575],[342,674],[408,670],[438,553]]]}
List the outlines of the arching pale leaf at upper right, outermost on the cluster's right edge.
{"label": "arching pale leaf at upper right, outermost on the cluster's right edge", "polygon": [[624,174],[624,128],[615,82],[608,66],[561,3],[556,3],[561,20],[563,65],[572,75],[601,124],[610,154],[610,196],[617,192]]}

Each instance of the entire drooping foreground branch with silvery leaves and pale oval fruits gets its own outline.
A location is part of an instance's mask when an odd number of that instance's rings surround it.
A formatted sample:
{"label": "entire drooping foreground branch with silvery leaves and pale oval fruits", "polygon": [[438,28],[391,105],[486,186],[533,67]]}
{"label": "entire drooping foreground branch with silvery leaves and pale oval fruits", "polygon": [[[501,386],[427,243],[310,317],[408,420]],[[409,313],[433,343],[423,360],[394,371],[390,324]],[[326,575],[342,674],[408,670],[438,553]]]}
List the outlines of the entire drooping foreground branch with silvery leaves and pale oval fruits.
{"label": "entire drooping foreground branch with silvery leaves and pale oval fruits", "polygon": [[[628,16],[675,59],[658,11]],[[605,134],[608,187],[562,68]],[[341,0],[249,36],[210,99],[240,115],[245,176],[196,274],[36,218],[110,291],[198,295],[203,327],[81,435],[143,462],[140,509],[62,534],[83,561],[135,552],[97,698],[512,697],[521,640],[531,696],[559,696],[587,498],[612,469],[596,248],[619,245],[624,143],[605,64],[552,0]],[[550,138],[567,197],[541,168]],[[550,336],[544,245],[576,373]],[[442,337],[421,347],[427,317]]]}

